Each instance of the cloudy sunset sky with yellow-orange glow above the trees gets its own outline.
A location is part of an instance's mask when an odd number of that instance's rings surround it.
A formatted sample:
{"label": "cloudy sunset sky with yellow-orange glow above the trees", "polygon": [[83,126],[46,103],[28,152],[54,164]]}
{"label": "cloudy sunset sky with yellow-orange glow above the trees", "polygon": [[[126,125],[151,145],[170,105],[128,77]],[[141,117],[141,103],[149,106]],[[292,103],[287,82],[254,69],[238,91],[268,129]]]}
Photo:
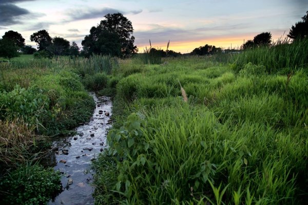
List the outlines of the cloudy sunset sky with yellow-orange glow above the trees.
{"label": "cloudy sunset sky with yellow-orange glow above the trees", "polygon": [[188,53],[205,44],[224,49],[271,32],[286,36],[308,10],[308,0],[0,0],[0,36],[13,30],[27,45],[47,30],[80,47],[104,15],[122,13],[133,26],[139,52],[149,47]]}

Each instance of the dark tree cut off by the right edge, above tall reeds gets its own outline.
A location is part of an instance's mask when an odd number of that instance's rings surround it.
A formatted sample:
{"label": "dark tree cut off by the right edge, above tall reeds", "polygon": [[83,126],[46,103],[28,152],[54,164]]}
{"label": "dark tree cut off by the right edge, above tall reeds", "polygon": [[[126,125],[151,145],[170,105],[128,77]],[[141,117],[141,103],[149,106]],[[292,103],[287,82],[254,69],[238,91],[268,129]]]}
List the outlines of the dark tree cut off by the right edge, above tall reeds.
{"label": "dark tree cut off by the right edge, above tall reeds", "polygon": [[308,36],[308,11],[306,12],[306,15],[302,17],[301,22],[295,23],[295,26],[292,25],[287,36],[294,40]]}

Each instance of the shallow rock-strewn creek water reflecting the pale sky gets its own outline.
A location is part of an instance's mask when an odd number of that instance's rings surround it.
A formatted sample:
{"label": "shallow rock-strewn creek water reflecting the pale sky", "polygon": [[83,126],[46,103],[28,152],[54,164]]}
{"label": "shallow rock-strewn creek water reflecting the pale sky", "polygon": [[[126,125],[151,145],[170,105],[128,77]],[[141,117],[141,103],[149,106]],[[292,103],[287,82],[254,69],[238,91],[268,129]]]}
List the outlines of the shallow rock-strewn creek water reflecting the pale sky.
{"label": "shallow rock-strewn creek water reflecting the pale sky", "polygon": [[94,204],[90,163],[107,148],[106,129],[111,127],[111,100],[109,97],[97,97],[94,93],[91,95],[96,108],[90,121],[75,129],[77,135],[53,142],[54,154],[50,161],[53,161],[55,170],[64,173],[61,178],[64,191],[48,204]]}

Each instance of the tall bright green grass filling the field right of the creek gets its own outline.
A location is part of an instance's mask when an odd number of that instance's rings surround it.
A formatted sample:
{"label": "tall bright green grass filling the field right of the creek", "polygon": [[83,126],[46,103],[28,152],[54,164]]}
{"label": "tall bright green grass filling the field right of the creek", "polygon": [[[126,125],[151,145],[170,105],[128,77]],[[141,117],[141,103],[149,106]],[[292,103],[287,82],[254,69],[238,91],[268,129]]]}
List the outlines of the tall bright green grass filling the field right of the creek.
{"label": "tall bright green grass filling the field right of the creek", "polygon": [[122,61],[109,149],[93,165],[96,203],[305,204],[307,52],[282,46],[229,64]]}

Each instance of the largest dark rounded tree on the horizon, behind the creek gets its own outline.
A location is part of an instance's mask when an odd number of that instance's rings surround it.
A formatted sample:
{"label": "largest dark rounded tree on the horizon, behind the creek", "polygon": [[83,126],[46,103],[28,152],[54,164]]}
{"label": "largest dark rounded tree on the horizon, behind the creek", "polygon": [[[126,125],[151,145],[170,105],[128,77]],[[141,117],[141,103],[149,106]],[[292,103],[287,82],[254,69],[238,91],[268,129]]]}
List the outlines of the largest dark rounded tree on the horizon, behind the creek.
{"label": "largest dark rounded tree on the horizon, behind the creek", "polygon": [[[118,44],[120,44],[120,53],[123,57],[136,53],[138,49],[133,45],[134,36],[130,20],[121,13],[107,14],[104,17],[106,19],[102,20],[97,27],[92,27],[90,34],[83,40],[84,50],[88,53],[118,55],[115,49],[118,49]],[[107,36],[112,40],[108,40]]]}

